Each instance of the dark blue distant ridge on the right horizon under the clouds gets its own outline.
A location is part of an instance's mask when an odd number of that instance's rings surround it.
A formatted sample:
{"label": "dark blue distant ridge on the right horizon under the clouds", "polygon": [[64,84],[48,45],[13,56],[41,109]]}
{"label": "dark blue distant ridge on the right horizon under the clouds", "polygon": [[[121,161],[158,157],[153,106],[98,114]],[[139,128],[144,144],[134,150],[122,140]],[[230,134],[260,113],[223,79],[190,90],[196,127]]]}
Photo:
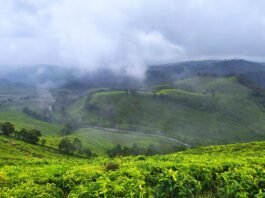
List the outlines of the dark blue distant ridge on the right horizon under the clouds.
{"label": "dark blue distant ridge on the right horizon under the clouds", "polygon": [[246,75],[259,85],[265,86],[265,66],[247,60],[205,60],[188,61],[151,66],[146,72],[146,82],[160,84],[174,82],[196,75]]}

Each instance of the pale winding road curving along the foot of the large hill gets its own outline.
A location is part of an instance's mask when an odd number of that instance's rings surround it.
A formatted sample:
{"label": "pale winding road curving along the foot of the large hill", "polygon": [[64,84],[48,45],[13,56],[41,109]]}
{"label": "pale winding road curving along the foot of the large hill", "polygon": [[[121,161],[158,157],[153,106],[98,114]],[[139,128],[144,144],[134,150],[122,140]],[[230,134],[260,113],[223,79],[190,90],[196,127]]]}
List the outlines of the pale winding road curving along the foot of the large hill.
{"label": "pale winding road curving along the foot of the large hill", "polygon": [[163,136],[163,135],[157,135],[157,134],[152,134],[152,133],[143,133],[143,132],[138,132],[138,131],[130,131],[130,130],[124,130],[124,129],[115,129],[115,128],[104,128],[104,127],[98,127],[98,126],[91,126],[91,125],[86,125],[84,126],[85,128],[93,128],[93,129],[99,129],[99,130],[104,130],[104,131],[112,131],[112,132],[117,132],[117,133],[127,133],[127,134],[136,134],[136,135],[147,135],[151,137],[159,137],[159,138],[164,138],[173,142],[176,142],[178,144],[181,144],[187,148],[191,148],[192,146],[188,143],[182,142],[178,139]]}

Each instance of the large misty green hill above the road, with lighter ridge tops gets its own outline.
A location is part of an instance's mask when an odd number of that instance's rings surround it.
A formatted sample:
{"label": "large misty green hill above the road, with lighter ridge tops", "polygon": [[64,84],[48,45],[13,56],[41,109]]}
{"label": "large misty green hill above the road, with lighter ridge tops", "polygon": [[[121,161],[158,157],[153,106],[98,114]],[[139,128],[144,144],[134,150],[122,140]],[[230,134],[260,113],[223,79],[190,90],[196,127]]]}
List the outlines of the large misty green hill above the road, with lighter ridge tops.
{"label": "large misty green hill above the road, with lighter ridge tops", "polygon": [[[157,91],[157,97],[122,91],[95,93],[74,103],[68,113],[84,123],[162,131],[193,144],[265,138],[264,111],[235,78],[196,77],[178,81],[176,87]],[[205,93],[207,89],[214,89],[215,96]],[[87,100],[93,107],[90,111]]]}

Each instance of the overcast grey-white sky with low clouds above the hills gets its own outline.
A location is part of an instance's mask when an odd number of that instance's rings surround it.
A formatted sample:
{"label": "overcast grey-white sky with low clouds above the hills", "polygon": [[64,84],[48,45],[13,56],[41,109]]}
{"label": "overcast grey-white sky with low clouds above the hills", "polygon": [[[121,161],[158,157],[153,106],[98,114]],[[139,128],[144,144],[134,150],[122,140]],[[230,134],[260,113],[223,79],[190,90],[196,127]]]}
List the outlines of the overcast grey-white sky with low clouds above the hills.
{"label": "overcast grey-white sky with low clouds above the hills", "polygon": [[[264,0],[0,0],[0,64],[265,60]],[[139,74],[140,75],[140,74]]]}

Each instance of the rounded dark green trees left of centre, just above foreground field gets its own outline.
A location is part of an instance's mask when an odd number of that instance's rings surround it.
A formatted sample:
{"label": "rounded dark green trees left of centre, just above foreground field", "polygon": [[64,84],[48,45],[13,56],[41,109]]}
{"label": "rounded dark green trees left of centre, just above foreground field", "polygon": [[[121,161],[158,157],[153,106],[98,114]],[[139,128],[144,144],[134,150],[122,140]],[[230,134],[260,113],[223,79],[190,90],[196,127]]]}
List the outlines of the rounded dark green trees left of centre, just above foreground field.
{"label": "rounded dark green trees left of centre, just above foreground field", "polygon": [[58,148],[61,152],[66,154],[78,153],[80,155],[85,155],[86,157],[97,156],[89,148],[83,148],[82,142],[79,138],[75,138],[72,142],[68,138],[63,138]]}

